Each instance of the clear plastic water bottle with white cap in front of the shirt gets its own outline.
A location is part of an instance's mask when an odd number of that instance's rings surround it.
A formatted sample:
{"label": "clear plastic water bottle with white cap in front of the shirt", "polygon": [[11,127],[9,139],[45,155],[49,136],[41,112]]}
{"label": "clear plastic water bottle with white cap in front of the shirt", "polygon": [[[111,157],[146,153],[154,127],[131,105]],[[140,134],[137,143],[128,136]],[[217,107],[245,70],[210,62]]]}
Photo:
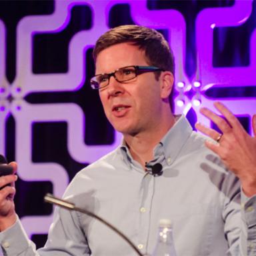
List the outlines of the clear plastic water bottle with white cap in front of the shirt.
{"label": "clear plastic water bottle with white cap in front of the shirt", "polygon": [[173,230],[169,219],[159,221],[157,244],[152,256],[177,256],[173,243]]}

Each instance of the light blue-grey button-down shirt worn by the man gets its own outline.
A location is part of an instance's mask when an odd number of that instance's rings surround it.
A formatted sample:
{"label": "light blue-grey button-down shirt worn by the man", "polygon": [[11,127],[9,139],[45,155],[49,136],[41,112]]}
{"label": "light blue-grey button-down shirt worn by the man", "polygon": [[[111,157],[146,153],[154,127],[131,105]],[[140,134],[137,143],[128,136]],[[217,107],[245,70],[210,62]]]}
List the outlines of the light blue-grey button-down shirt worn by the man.
{"label": "light blue-grey button-down shirt worn by the man", "polygon": [[[256,255],[256,197],[241,193],[239,180],[204,141],[180,117],[147,163],[161,163],[161,176],[145,172],[121,145],[77,173],[64,197],[115,225],[141,253],[152,253],[164,218],[173,223],[177,256]],[[0,234],[0,243],[11,256],[136,255],[99,221],[65,209],[55,212],[43,249],[35,251],[19,221]]]}

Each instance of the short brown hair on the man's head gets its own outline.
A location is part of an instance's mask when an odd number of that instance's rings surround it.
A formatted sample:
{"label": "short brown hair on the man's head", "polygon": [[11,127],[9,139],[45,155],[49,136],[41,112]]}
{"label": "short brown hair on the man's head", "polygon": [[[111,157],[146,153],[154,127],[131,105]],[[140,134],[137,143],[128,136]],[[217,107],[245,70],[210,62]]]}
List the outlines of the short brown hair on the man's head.
{"label": "short brown hair on the man's head", "polygon": [[[165,71],[175,72],[175,62],[173,51],[161,33],[155,29],[138,25],[123,25],[110,29],[96,42],[93,49],[93,58],[96,62],[97,56],[101,51],[118,43],[132,43],[139,49],[145,51],[145,57],[149,65],[159,67]],[[156,79],[159,79],[160,72],[156,73]],[[170,95],[170,105],[173,110],[173,91]]]}

